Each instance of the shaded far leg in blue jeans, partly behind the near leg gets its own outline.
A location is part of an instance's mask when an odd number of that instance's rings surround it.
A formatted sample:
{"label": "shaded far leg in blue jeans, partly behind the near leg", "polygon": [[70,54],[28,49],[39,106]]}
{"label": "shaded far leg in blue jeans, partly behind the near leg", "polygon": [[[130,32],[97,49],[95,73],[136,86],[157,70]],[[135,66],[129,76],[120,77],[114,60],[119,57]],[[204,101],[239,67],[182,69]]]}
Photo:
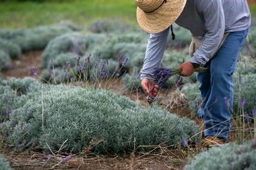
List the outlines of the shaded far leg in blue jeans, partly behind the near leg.
{"label": "shaded far leg in blue jeans, partly behind the near leg", "polygon": [[[205,67],[210,67],[210,63],[211,61],[207,62],[207,64],[205,65]],[[211,92],[211,72],[210,69],[208,69],[207,71],[203,72],[203,73],[198,73],[197,74],[197,81],[199,81],[199,91],[201,93],[201,98],[203,100],[203,102],[200,105],[200,108],[197,112],[197,116],[199,116],[199,118],[203,118],[204,117],[204,109],[205,109],[205,103],[207,103],[209,96],[210,96],[210,92]]]}

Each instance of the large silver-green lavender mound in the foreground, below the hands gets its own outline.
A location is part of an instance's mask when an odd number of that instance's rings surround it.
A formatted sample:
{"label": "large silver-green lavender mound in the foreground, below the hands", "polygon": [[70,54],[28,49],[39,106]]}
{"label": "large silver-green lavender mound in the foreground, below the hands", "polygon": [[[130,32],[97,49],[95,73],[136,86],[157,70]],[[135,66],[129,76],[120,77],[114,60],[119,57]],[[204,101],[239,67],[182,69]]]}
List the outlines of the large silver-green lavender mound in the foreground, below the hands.
{"label": "large silver-green lavender mound in the foreground, below the hands", "polygon": [[96,139],[102,141],[93,151],[125,153],[141,145],[177,146],[199,132],[187,118],[160,108],[143,108],[110,91],[44,86],[24,95],[23,101],[0,125],[15,151],[39,146],[49,153],[49,147],[57,151],[67,140],[61,152],[79,153]]}

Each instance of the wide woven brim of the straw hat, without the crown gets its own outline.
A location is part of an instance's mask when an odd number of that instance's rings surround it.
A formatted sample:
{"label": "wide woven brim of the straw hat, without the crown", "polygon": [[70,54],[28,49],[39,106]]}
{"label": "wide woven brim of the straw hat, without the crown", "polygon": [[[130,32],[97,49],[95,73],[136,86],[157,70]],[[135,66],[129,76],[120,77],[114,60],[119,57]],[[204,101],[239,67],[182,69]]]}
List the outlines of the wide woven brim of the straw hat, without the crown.
{"label": "wide woven brim of the straw hat, without the crown", "polygon": [[162,32],[178,19],[186,2],[187,0],[169,0],[152,13],[145,13],[137,7],[137,22],[146,32]]}

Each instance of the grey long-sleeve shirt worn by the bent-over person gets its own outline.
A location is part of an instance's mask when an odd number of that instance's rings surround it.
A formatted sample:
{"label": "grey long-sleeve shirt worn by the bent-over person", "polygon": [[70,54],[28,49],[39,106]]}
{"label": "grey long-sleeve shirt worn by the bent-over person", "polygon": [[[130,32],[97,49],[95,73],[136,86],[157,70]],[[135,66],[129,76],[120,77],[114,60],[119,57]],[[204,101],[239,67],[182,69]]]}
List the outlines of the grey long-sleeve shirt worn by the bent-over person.
{"label": "grey long-sleeve shirt worn by the bent-over person", "polygon": [[[251,26],[251,14],[247,0],[187,0],[176,24],[193,36],[203,38],[191,62],[205,65],[218,50],[224,33],[247,30]],[[141,79],[152,77],[154,69],[160,67],[169,30],[150,34]]]}

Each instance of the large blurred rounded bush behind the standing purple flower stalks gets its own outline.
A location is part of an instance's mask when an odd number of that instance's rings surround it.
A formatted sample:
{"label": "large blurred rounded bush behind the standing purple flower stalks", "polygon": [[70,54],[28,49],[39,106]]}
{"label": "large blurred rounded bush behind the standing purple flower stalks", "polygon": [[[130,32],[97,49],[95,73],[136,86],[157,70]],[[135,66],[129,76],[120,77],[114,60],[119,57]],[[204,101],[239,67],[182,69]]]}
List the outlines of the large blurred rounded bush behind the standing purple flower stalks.
{"label": "large blurred rounded bush behind the standing purple flower stalks", "polygon": [[[46,46],[42,54],[42,67],[46,69],[51,65],[51,60],[55,60],[61,53],[72,52],[83,56],[95,44],[101,42],[104,36],[101,34],[79,34],[71,33],[59,36]],[[89,52],[90,53],[90,52]]]}

